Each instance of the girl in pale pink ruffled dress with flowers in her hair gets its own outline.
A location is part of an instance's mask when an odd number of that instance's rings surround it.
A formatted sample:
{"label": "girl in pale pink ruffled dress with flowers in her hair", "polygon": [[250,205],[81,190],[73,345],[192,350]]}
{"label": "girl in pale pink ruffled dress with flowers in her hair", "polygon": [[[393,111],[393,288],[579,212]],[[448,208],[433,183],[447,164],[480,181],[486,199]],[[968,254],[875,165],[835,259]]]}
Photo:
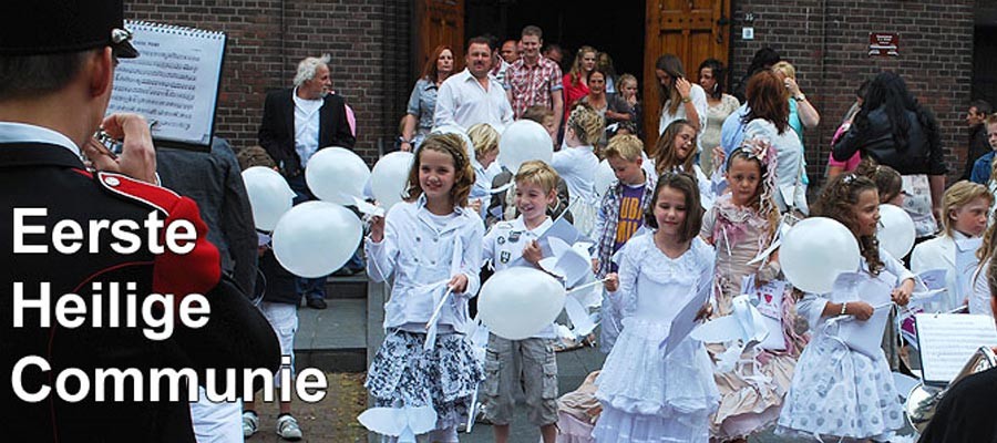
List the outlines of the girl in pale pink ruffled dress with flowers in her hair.
{"label": "girl in pale pink ruffled dress with flowers in her hair", "polygon": [[[763,261],[753,264],[775,241],[779,208],[772,198],[775,187],[775,148],[762,140],[749,140],[731,153],[727,164],[730,193],[717,199],[707,213],[700,236],[717,250],[713,299],[715,318],[733,313],[732,300],[741,293],[759,293],[753,288],[782,277],[778,249]],[[747,279],[747,280],[746,280]],[[752,282],[753,281],[753,282]],[[710,432],[716,441],[743,442],[749,435],[773,424],[779,418],[782,398],[789,390],[796,358],[805,340],[795,332],[795,303],[788,285],[767,286],[772,297],[759,298],[758,309],[765,316],[777,340],[767,341],[738,357],[733,368],[717,369],[713,380],[720,390],[720,408],[711,418]],[[767,292],[768,293],[768,292]],[[727,360],[724,344],[707,347],[715,360]],[[746,364],[747,363],[747,364]]]}

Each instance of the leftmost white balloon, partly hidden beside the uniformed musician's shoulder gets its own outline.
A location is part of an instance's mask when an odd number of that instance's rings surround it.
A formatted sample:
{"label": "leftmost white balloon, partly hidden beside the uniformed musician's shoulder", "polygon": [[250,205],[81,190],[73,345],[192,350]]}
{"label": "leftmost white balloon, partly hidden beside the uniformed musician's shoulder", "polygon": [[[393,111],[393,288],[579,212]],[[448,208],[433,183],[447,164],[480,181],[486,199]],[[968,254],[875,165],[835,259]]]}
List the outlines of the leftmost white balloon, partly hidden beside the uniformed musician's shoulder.
{"label": "leftmost white balloon, partly hidden beside the uniformed musician's shoulder", "polygon": [[294,205],[295,192],[278,172],[264,166],[243,171],[243,183],[246,184],[256,228],[274,230],[280,216]]}

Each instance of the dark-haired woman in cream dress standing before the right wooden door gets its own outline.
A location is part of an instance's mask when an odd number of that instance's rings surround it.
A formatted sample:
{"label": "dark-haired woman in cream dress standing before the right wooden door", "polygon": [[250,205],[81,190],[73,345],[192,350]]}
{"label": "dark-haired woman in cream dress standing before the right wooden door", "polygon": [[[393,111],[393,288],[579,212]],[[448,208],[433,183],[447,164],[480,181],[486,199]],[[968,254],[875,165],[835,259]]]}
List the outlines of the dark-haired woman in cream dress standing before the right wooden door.
{"label": "dark-haired woman in cream dress standing before the right wooden door", "polygon": [[[699,84],[707,93],[707,128],[702,132],[702,153],[699,156],[699,165],[702,171],[712,172],[712,151],[720,146],[720,128],[723,121],[738,110],[741,102],[733,95],[727,94],[727,70],[717,59],[707,59],[699,65]],[[716,166],[719,166],[717,164]]]}

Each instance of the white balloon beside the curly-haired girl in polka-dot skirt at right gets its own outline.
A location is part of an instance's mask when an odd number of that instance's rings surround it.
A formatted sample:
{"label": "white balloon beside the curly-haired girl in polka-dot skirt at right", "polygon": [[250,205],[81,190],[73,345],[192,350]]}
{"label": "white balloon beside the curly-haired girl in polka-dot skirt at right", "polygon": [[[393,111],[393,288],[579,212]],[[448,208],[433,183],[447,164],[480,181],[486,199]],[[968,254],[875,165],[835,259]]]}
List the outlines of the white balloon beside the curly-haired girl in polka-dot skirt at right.
{"label": "white balloon beside the curly-haired girl in polka-dot skirt at right", "polygon": [[826,293],[841,272],[859,269],[859,240],[835,219],[806,218],[782,237],[779,264],[785,278],[796,288]]}

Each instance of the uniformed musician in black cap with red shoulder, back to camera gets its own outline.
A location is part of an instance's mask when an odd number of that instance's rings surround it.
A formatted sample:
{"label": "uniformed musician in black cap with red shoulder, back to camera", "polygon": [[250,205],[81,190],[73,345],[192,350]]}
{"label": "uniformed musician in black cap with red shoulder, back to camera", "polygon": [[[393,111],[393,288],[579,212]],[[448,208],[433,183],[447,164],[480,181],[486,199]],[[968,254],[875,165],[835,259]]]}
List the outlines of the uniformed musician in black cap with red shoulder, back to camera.
{"label": "uniformed musician in black cap with red shoulder, back to camera", "polygon": [[[147,122],[104,117],[117,59],[138,55],[122,17],[121,0],[0,2],[4,441],[194,442],[188,383],[279,365],[196,204],[150,184]],[[93,140],[99,126],[120,155]],[[183,318],[198,300],[203,324]]]}

